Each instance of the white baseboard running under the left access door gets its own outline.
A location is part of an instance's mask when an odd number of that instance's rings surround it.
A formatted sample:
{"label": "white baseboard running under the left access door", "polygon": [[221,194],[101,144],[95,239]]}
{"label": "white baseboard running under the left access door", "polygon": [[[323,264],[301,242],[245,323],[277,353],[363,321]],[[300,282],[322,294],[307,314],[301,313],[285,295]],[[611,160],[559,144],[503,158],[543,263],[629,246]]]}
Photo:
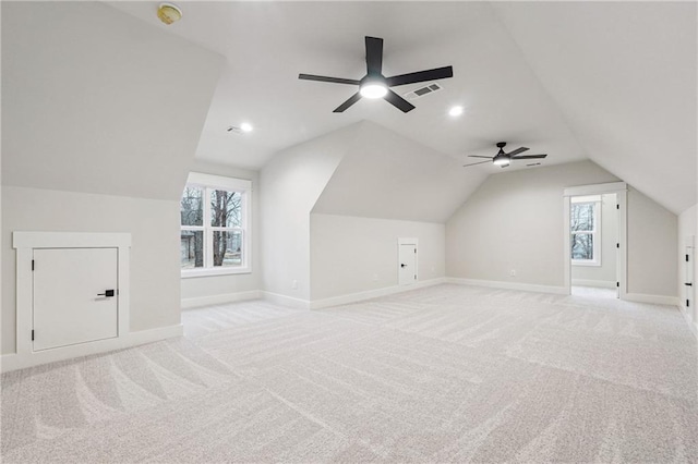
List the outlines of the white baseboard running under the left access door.
{"label": "white baseboard running under the left access door", "polygon": [[171,339],[182,335],[182,325],[158,327],[157,329],[140,330],[129,332],[124,337],[117,339],[99,340],[96,342],[81,343],[76,345],[63,346],[55,350],[46,350],[34,353],[3,354],[0,357],[0,371],[24,369],[39,366],[41,364],[57,361],[72,359],[92,354],[105,353],[113,350],[123,350],[144,343],[157,342],[159,340]]}

